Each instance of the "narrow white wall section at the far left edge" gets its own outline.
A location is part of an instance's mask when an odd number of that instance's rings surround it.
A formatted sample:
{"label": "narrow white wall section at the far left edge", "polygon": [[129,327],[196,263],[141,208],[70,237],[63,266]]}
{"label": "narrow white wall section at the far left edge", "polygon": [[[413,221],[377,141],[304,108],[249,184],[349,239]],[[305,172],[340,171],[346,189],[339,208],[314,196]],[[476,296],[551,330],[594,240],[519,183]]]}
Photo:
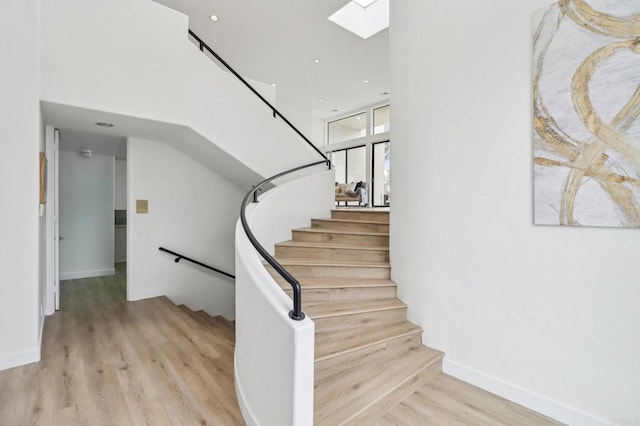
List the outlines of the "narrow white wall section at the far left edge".
{"label": "narrow white wall section at the far left edge", "polygon": [[[20,34],[19,37],[16,35]],[[40,359],[38,2],[0,5],[0,370]]]}

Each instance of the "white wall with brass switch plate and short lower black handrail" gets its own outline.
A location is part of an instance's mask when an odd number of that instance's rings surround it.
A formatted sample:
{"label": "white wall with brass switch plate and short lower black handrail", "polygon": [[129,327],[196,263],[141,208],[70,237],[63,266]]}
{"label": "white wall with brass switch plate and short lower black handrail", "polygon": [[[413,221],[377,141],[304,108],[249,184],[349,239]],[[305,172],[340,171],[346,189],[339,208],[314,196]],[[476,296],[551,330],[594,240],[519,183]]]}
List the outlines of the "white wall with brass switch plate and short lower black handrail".
{"label": "white wall with brass switch plate and short lower black handrail", "polygon": [[[234,228],[244,193],[163,142],[130,138],[128,299],[166,294],[177,304],[234,318],[232,279],[162,253],[182,253],[234,273]],[[136,214],[135,200],[149,202]]]}

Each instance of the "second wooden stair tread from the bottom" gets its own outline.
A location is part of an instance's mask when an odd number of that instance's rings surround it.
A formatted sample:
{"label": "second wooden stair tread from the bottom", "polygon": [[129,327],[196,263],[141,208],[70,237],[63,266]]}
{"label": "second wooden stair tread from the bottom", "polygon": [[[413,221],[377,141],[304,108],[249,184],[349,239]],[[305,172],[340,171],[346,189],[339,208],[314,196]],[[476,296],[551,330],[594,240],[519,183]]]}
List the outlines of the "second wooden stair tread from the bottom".
{"label": "second wooden stair tread from the bottom", "polygon": [[409,322],[349,327],[342,330],[320,331],[316,333],[315,361],[329,358],[387,342],[410,334],[421,333],[422,328]]}

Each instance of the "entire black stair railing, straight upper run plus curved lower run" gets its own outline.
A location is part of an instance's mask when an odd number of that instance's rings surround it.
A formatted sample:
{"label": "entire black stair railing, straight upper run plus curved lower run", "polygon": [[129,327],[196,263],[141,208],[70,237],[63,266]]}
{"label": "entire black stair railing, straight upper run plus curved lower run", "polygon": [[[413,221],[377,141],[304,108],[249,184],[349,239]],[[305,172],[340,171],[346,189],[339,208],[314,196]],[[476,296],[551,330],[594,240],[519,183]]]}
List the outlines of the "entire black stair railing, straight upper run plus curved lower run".
{"label": "entire black stair railing, straight upper run plus curved lower run", "polygon": [[300,130],[298,130],[285,116],[283,116],[280,111],[278,111],[269,101],[267,101],[251,84],[249,84],[236,70],[234,70],[224,59],[220,57],[216,52],[213,51],[196,33],[189,30],[189,35],[193,37],[193,39],[198,43],[200,51],[204,52],[205,50],[209,52],[222,66],[224,66],[231,74],[236,76],[238,80],[242,82],[254,95],[256,95],[265,105],[269,107],[274,118],[280,118],[287,126],[289,126],[298,136],[300,136],[314,151],[316,151],[323,159],[320,161],[316,161],[314,163],[305,164],[303,166],[299,166],[293,168],[291,170],[284,171],[282,173],[278,173],[277,175],[271,176],[263,180],[262,182],[255,185],[251,191],[247,192],[244,199],[242,200],[242,206],[240,208],[240,221],[242,222],[242,228],[247,235],[247,238],[251,242],[251,245],[256,249],[256,251],[262,256],[264,260],[269,263],[273,269],[275,269],[282,278],[284,278],[293,290],[293,309],[289,312],[289,317],[296,321],[302,321],[305,318],[304,312],[302,312],[302,288],[298,280],[296,280],[293,275],[291,275],[277,260],[273,258],[265,250],[265,248],[258,242],[255,235],[251,231],[249,227],[249,223],[247,222],[246,217],[246,207],[249,203],[258,202],[258,192],[262,191],[262,187],[278,178],[286,176],[290,173],[294,173],[309,167],[317,166],[320,164],[326,164],[327,167],[331,168],[331,161],[327,158],[327,156],[318,149],[317,146],[309,140]]}

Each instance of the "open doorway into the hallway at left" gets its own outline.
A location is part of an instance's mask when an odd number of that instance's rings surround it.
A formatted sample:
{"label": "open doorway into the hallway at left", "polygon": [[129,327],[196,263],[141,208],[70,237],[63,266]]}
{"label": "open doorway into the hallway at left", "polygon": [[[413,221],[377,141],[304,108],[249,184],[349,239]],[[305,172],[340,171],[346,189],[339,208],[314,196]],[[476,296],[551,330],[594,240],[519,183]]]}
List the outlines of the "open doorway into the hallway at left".
{"label": "open doorway into the hallway at left", "polygon": [[[47,152],[54,151],[56,159],[55,184],[48,188],[55,208],[47,314],[72,300],[65,288],[103,292],[98,284],[108,282],[106,277],[124,287],[126,299],[126,139],[49,126],[45,133]],[[117,292],[118,285],[111,283],[108,292]]]}

